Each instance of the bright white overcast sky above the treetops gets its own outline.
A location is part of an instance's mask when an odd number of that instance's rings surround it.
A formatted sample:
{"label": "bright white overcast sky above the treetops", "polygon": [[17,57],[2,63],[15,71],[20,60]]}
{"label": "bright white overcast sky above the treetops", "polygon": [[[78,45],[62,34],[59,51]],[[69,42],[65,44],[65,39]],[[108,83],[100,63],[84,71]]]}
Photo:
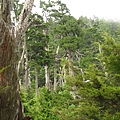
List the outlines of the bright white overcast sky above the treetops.
{"label": "bright white overcast sky above the treetops", "polygon": [[[24,1],[24,0],[21,0]],[[47,0],[45,0],[47,1]],[[120,0],[61,0],[67,5],[70,13],[75,18],[94,16],[100,19],[109,19],[120,21]],[[38,7],[39,0],[35,0],[35,5]],[[38,11],[38,8],[33,10]]]}

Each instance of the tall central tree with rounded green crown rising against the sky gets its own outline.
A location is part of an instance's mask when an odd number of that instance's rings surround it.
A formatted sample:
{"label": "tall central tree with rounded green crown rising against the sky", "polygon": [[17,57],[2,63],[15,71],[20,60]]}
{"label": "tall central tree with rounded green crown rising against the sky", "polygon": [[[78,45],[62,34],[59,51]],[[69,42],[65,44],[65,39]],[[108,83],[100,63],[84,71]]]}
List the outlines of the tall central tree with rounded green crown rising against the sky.
{"label": "tall central tree with rounded green crown rising against the sky", "polygon": [[51,65],[54,68],[54,90],[56,90],[57,84],[61,84],[61,81],[64,81],[59,80],[59,78],[62,78],[60,77],[60,72],[64,71],[60,70],[60,59],[63,56],[65,59],[68,58],[69,73],[73,75],[70,67],[73,57],[71,55],[73,52],[71,53],[71,51],[75,51],[79,46],[81,41],[78,38],[80,31],[77,20],[70,15],[69,9],[61,1],[41,2],[41,8],[48,23],[49,49],[54,55],[54,62]]}

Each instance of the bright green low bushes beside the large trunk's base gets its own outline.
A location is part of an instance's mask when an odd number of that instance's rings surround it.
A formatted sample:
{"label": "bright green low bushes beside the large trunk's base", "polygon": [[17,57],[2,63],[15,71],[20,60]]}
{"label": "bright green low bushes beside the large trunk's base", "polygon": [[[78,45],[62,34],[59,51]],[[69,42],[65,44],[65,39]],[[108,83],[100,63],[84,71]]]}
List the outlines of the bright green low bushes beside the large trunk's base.
{"label": "bright green low bushes beside the large trunk's base", "polygon": [[59,112],[62,108],[67,109],[68,100],[73,99],[66,90],[49,91],[46,88],[39,89],[38,98],[33,89],[21,91],[24,112],[31,115],[33,120],[59,120]]}

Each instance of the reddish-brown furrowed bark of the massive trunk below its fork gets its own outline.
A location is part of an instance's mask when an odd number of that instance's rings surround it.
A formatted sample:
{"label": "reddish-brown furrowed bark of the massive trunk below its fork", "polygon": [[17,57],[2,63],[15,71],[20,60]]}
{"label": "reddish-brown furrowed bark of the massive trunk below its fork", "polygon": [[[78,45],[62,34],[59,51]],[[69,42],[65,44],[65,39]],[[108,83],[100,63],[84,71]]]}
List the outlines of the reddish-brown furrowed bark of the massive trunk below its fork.
{"label": "reddish-brown furrowed bark of the massive trunk below its fork", "polygon": [[17,79],[15,38],[10,25],[0,20],[0,120],[22,120]]}

